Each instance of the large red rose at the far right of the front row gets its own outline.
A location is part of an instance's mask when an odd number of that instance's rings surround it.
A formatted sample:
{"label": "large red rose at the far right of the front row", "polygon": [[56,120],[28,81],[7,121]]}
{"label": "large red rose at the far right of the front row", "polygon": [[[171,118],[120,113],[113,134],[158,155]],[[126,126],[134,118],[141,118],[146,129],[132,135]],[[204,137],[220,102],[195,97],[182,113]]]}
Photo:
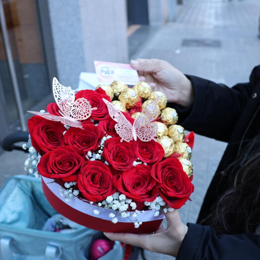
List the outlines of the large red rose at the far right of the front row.
{"label": "large red rose at the far right of the front row", "polygon": [[160,183],[160,196],[170,207],[180,208],[194,192],[194,186],[177,158],[154,164],[151,175]]}

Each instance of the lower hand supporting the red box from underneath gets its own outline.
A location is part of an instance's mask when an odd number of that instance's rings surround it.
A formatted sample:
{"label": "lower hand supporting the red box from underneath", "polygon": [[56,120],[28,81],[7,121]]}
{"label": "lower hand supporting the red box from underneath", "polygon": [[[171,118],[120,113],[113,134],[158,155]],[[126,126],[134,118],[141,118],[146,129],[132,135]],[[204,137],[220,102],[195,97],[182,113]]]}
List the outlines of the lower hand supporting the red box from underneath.
{"label": "lower hand supporting the red box from underneath", "polygon": [[178,210],[167,212],[167,229],[161,225],[154,234],[108,233],[104,235],[111,240],[141,247],[152,252],[176,257],[188,227],[182,222]]}

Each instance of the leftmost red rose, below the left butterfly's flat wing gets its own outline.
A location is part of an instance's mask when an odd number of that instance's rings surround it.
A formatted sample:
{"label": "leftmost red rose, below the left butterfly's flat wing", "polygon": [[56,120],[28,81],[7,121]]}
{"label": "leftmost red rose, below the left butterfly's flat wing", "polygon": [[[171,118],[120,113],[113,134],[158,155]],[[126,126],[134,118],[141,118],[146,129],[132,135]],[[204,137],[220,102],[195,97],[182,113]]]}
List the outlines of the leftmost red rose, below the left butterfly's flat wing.
{"label": "leftmost red rose, below the left butterfly's flat wing", "polygon": [[28,120],[28,129],[32,145],[40,154],[61,146],[64,140],[63,132],[66,130],[62,123],[40,116],[33,116]]}

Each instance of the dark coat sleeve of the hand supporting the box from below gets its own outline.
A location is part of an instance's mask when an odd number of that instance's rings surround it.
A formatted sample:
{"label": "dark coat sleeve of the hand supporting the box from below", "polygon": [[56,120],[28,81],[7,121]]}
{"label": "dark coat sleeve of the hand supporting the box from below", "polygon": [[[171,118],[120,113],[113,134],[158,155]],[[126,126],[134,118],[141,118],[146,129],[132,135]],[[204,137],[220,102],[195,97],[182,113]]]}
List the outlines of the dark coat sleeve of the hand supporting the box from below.
{"label": "dark coat sleeve of the hand supporting the box from below", "polygon": [[216,235],[210,226],[188,227],[176,260],[260,259],[260,235]]}

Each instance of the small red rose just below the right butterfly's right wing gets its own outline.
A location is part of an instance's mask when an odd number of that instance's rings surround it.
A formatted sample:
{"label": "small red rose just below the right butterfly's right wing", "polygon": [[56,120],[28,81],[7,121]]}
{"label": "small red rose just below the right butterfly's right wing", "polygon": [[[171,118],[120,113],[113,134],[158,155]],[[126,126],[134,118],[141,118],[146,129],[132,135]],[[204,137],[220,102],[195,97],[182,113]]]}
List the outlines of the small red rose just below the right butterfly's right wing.
{"label": "small red rose just below the right butterfly's right wing", "polygon": [[137,139],[136,144],[136,156],[140,158],[142,162],[155,163],[162,160],[164,149],[158,142],[154,140],[142,142],[140,139]]}

